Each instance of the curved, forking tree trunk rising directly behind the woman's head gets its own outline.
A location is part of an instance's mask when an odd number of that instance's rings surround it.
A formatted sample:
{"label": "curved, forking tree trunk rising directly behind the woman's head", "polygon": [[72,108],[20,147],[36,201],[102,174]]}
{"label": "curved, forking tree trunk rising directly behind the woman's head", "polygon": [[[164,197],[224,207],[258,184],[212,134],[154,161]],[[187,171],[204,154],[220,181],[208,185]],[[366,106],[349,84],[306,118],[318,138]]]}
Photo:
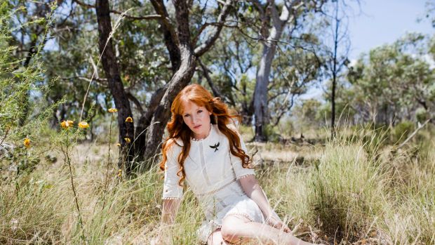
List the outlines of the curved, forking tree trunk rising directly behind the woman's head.
{"label": "curved, forking tree trunk rising directly behind the woman's head", "polygon": [[[162,135],[170,118],[170,106],[172,105],[173,99],[192,79],[196,67],[196,57],[206,53],[206,51],[213,46],[222,30],[225,18],[229,14],[233,3],[233,0],[225,1],[222,11],[217,18],[217,25],[215,25],[214,32],[211,32],[208,39],[204,41],[203,44],[197,46],[195,50],[193,49],[189,30],[189,4],[187,1],[173,0],[175,19],[177,20],[177,32],[175,32],[175,29],[169,22],[162,20],[166,29],[163,34],[168,34],[165,38],[172,39],[171,41],[166,41],[166,47],[168,51],[171,52],[170,50],[175,50],[173,45],[178,45],[177,48],[178,51],[180,51],[180,65],[168,84],[166,84],[161,91],[154,93],[153,97],[155,100],[152,98],[152,110],[149,110],[141,117],[140,123],[142,128],[139,133],[143,132],[143,134],[146,134],[146,142],[144,145],[140,145],[140,150],[145,152],[144,158],[148,160],[142,167],[142,170],[147,170],[152,166],[154,157],[160,150],[161,141],[163,140]],[[163,1],[152,0],[152,4],[154,8],[156,8],[157,13],[166,13]],[[170,55],[173,67],[175,67],[174,63],[176,60],[173,60],[173,58],[176,58],[176,55]]]}

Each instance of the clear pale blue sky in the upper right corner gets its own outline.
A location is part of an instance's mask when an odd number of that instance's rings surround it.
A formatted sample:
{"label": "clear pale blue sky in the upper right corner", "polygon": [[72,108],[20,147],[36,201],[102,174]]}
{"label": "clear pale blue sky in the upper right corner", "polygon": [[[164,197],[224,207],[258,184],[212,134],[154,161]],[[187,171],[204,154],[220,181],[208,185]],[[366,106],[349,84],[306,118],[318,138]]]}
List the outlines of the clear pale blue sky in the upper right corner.
{"label": "clear pale blue sky in the upper right corner", "polygon": [[365,0],[361,1],[361,13],[357,4],[352,4],[353,15],[349,18],[352,59],[361,52],[382,44],[391,44],[406,32],[434,34],[429,20],[417,22],[424,17],[427,0]]}

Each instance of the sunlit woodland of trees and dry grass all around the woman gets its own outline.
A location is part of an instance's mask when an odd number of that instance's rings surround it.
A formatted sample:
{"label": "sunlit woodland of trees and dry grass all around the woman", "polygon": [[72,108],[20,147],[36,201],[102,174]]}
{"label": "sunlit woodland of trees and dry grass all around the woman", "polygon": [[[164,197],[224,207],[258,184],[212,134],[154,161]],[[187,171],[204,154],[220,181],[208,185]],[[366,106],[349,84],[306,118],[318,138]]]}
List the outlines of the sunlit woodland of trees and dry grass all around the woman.
{"label": "sunlit woodland of trees and dry grass all around the woman", "polygon": [[196,83],[239,112],[299,237],[434,244],[435,36],[351,61],[350,4],[1,1],[0,243],[197,243],[188,188],[178,223],[158,225],[156,166],[171,102]]}

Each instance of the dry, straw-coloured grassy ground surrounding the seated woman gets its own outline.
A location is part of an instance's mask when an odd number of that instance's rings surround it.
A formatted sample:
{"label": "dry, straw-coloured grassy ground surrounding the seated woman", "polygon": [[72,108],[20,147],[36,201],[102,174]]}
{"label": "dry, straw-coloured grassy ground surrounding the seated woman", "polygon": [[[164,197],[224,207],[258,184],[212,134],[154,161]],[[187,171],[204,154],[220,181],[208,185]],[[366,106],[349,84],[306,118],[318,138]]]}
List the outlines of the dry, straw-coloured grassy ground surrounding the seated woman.
{"label": "dry, straw-coloured grassy ground surrounding the seated woman", "polygon": [[[298,237],[325,244],[435,244],[431,135],[422,132],[400,150],[363,130],[324,144],[248,147],[257,152],[257,178],[272,206]],[[111,164],[115,150],[109,164],[107,145],[70,150],[79,211],[56,147],[47,152],[54,163],[48,157],[18,177],[1,171],[0,244],[149,244],[158,232],[167,234],[168,244],[198,244],[202,215],[192,192],[185,192],[175,225],[159,228],[163,174],[154,168],[126,180]]]}

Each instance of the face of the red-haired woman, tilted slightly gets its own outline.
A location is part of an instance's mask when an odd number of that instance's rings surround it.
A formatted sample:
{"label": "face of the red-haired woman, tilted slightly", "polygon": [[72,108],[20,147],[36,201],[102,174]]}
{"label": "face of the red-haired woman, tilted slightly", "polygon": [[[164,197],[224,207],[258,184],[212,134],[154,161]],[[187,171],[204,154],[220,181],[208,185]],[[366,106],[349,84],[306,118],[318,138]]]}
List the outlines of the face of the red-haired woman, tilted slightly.
{"label": "face of the red-haired woman, tilted slightly", "polygon": [[190,100],[182,101],[182,118],[192,130],[195,138],[205,138],[210,132],[210,115],[206,107],[198,106]]}

